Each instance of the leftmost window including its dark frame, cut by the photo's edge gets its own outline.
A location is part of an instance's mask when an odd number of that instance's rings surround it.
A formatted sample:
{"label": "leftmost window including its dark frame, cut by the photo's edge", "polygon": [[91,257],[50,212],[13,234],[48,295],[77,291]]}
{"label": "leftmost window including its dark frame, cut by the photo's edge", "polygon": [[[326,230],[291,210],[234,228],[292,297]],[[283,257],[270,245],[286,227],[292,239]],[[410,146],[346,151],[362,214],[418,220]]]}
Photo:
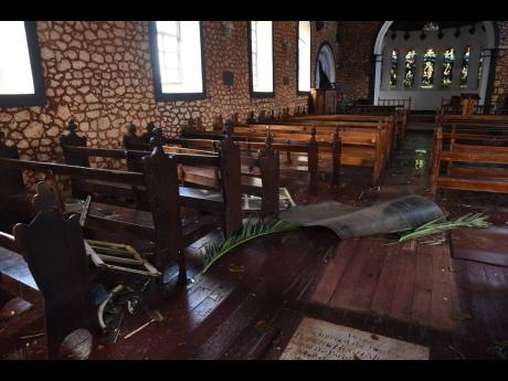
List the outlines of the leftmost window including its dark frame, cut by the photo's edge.
{"label": "leftmost window including its dark frame, cut by the photo's edge", "polygon": [[0,21],[0,107],[46,104],[34,21]]}

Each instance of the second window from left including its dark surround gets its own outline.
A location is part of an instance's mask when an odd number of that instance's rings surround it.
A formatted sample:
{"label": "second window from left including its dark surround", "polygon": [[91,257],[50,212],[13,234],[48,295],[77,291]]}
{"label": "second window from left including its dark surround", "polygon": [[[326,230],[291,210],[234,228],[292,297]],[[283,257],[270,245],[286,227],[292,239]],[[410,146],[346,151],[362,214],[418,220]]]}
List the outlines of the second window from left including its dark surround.
{"label": "second window from left including its dark surround", "polygon": [[200,21],[151,21],[151,62],[157,100],[205,97]]}

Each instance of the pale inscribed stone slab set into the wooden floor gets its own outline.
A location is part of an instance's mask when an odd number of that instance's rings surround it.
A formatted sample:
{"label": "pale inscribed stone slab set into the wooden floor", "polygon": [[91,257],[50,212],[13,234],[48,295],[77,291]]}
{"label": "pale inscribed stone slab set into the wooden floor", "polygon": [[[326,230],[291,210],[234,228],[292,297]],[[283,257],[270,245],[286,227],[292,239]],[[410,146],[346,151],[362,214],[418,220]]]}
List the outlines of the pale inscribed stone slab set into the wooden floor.
{"label": "pale inscribed stone slab set into the wooden floor", "polygon": [[428,360],[426,347],[304,318],[281,360]]}

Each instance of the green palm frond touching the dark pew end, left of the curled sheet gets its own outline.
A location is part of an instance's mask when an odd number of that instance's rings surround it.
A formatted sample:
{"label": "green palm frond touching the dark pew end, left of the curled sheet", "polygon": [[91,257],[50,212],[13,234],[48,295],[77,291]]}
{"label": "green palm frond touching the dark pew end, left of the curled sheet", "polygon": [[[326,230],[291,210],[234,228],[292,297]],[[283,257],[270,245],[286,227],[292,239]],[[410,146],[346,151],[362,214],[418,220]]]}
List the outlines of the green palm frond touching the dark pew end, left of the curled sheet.
{"label": "green palm frond touching the dark pew end, left of the curled sheet", "polygon": [[243,245],[245,242],[263,235],[286,232],[298,227],[300,227],[300,225],[284,220],[275,220],[273,222],[247,220],[239,233],[230,236],[222,244],[213,242],[204,246],[203,273],[205,273],[224,254],[240,245]]}

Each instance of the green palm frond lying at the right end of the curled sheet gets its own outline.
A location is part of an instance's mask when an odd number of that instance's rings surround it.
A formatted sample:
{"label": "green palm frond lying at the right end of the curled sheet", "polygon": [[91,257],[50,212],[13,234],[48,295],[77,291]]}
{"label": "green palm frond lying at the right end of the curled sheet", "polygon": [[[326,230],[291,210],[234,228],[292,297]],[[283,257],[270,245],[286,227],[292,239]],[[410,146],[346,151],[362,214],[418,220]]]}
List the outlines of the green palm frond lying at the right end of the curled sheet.
{"label": "green palm frond lying at the right end of the curled sheet", "polygon": [[410,233],[401,234],[398,242],[405,242],[410,240],[420,239],[421,236],[442,233],[453,229],[459,227],[478,227],[484,229],[490,226],[487,221],[488,215],[484,213],[468,213],[452,221],[437,222],[441,219],[427,222]]}

